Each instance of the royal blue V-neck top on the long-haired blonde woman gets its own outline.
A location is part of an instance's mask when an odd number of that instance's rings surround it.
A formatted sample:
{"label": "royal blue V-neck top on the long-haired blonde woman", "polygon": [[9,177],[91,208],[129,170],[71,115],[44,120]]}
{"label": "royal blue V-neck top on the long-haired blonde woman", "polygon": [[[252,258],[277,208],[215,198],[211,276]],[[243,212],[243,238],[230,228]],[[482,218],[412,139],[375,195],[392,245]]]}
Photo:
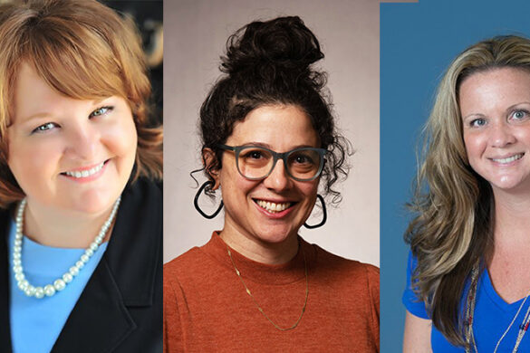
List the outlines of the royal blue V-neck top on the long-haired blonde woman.
{"label": "royal blue V-neck top on the long-haired blonde woman", "polygon": [[[429,313],[425,308],[423,301],[418,301],[414,291],[411,289],[411,276],[416,268],[417,261],[411,253],[409,253],[409,260],[407,264],[407,288],[403,292],[403,304],[409,312],[419,318],[429,319]],[[461,305],[464,307],[467,293],[462,296]],[[516,301],[512,304],[506,303],[496,293],[495,288],[489,278],[489,273],[484,271],[480,274],[477,286],[477,300],[475,302],[475,322],[473,323],[473,333],[477,349],[479,352],[493,352],[498,340],[503,336],[510,322],[514,320],[516,312],[523,303],[524,299]],[[530,298],[525,301],[517,316],[514,324],[506,333],[506,337],[502,339],[497,353],[512,352],[516,345],[517,334],[519,326],[525,319],[526,311],[530,308]],[[430,344],[433,352],[456,353],[465,352],[461,347],[455,347],[448,342],[447,339],[434,326],[431,330]],[[473,351],[473,350],[472,350]],[[530,332],[526,332],[522,339],[519,352],[530,352]]]}

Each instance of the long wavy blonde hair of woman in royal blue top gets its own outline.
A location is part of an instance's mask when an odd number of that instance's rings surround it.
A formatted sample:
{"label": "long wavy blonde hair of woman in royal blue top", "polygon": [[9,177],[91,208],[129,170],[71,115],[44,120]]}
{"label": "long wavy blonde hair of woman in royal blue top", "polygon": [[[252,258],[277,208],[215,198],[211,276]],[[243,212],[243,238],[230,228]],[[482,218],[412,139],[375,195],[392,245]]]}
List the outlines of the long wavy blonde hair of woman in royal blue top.
{"label": "long wavy blonde hair of woman in royal blue top", "polygon": [[439,83],[423,131],[405,240],[418,266],[412,283],[434,326],[454,345],[465,346],[460,303],[473,266],[493,251],[495,222],[491,186],[469,166],[462,135],[458,90],[477,72],[517,68],[530,73],[530,40],[498,36],[476,43],[450,64]]}

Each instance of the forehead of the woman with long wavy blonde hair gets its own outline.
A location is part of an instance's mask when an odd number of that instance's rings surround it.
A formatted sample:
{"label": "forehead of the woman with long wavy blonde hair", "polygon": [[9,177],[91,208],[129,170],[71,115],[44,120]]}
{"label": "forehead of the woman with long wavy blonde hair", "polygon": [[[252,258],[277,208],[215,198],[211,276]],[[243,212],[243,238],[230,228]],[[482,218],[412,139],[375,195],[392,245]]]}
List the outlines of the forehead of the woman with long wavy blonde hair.
{"label": "forehead of the woman with long wavy blonde hair", "polygon": [[473,73],[460,84],[458,99],[464,115],[530,103],[530,73],[517,68]]}

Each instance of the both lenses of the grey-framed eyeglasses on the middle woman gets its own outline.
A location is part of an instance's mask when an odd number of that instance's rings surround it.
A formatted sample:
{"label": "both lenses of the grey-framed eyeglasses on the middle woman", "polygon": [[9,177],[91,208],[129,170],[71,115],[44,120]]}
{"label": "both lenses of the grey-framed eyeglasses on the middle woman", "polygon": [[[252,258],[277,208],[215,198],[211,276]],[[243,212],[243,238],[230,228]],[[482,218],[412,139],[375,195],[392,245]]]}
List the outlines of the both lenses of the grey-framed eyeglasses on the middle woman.
{"label": "both lenses of the grey-framed eyeglasses on the middle woman", "polygon": [[[309,180],[316,176],[321,167],[321,156],[313,149],[296,149],[286,157],[286,168],[294,178]],[[237,159],[239,172],[248,178],[263,178],[274,167],[273,154],[264,148],[249,147],[240,151]]]}

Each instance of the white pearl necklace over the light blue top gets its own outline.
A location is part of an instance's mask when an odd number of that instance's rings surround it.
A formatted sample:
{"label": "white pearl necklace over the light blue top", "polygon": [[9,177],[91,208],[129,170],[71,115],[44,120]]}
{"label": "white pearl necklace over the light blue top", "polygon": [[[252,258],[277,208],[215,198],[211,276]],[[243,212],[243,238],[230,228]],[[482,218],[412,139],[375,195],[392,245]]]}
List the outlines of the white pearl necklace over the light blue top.
{"label": "white pearl necklace over the light blue top", "polygon": [[24,294],[28,297],[35,297],[37,299],[42,299],[44,295],[52,297],[58,291],[63,291],[66,288],[66,285],[70,283],[75,276],[79,274],[84,265],[90,261],[92,255],[98,250],[101,242],[105,238],[105,234],[111,227],[116,212],[118,211],[118,206],[120,205],[121,196],[118,197],[114,205],[112,206],[111,215],[105,223],[101,226],[100,232],[95,237],[94,241],[86,248],[84,253],[81,255],[79,261],[65,272],[62,277],[53,281],[53,284],[46,284],[43,287],[34,287],[29,281],[25,279],[24,267],[22,266],[22,232],[24,224],[24,208],[27,203],[26,199],[21,201],[18,211],[16,213],[15,225],[16,233],[14,235],[14,245],[13,245],[13,272],[14,279],[16,280],[16,286],[24,291]]}

